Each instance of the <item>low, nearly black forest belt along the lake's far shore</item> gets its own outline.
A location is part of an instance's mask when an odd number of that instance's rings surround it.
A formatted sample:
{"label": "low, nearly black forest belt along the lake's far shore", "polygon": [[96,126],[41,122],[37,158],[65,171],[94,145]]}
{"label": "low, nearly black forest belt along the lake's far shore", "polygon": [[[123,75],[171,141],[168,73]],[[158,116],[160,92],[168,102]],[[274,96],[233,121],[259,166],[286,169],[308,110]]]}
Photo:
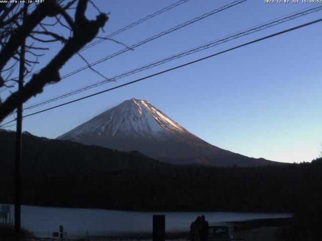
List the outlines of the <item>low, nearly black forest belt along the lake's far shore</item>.
{"label": "low, nearly black forest belt along the lake's far shore", "polygon": [[[322,160],[266,167],[168,166],[30,177],[25,204],[125,210],[296,212],[322,203]],[[13,180],[0,182],[11,202]]]}

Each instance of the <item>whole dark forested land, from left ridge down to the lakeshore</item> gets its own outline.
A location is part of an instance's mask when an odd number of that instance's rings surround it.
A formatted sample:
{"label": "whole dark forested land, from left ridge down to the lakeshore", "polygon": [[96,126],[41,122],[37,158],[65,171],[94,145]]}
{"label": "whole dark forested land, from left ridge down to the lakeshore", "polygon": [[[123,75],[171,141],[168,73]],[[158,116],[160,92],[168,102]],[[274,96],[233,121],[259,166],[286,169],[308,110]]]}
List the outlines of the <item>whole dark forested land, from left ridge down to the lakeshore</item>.
{"label": "whole dark forested land, from left ridge down to the lakeshore", "polygon": [[[0,202],[14,197],[14,132],[0,132]],[[25,204],[123,210],[295,212],[322,203],[322,161],[171,165],[138,152],[23,135]]]}

